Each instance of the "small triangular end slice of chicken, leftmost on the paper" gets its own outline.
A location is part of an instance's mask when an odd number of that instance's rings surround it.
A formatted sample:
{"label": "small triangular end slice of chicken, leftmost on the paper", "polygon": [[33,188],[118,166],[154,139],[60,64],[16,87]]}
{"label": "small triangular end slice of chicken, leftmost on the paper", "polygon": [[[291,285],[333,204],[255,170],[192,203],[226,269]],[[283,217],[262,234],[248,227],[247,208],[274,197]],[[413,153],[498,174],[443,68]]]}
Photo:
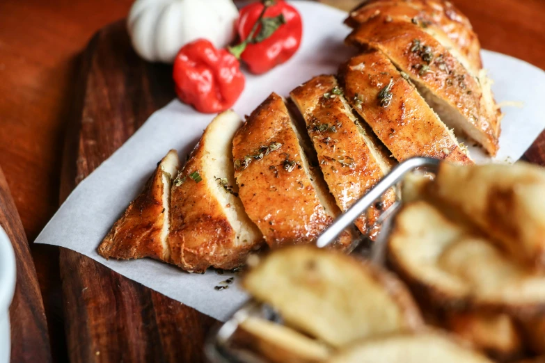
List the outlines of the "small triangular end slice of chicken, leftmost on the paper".
{"label": "small triangular end slice of chicken, leftmost on the paper", "polygon": [[168,152],[159,162],[142,193],[129,204],[123,216],[100,243],[99,255],[106,259],[152,257],[168,260],[168,201],[171,180],[177,173],[178,163],[175,150]]}

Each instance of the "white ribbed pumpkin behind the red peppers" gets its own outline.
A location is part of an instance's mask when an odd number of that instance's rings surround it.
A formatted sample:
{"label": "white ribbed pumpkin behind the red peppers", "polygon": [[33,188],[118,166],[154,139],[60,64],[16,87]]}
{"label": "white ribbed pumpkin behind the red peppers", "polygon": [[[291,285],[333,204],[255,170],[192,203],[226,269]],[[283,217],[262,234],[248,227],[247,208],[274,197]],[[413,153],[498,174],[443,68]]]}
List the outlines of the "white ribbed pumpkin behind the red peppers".
{"label": "white ribbed pumpkin behind the red peppers", "polygon": [[226,47],[235,38],[238,16],[232,0],[136,0],[127,27],[142,58],[173,63],[180,48],[198,38]]}

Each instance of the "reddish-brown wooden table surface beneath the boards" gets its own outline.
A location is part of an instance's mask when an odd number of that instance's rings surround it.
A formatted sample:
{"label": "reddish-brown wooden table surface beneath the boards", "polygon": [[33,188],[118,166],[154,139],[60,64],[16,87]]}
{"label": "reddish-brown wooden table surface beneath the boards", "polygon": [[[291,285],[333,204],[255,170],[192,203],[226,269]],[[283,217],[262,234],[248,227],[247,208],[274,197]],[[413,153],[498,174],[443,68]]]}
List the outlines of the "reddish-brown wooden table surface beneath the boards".
{"label": "reddish-brown wooden table surface beneath the boards", "polygon": [[[328,0],[349,8],[356,1]],[[545,69],[545,1],[455,0],[486,49]],[[0,167],[33,241],[58,208],[63,139],[79,54],[131,0],[0,1]],[[527,154],[545,160],[545,143]],[[58,249],[33,245],[54,361],[65,362]]]}

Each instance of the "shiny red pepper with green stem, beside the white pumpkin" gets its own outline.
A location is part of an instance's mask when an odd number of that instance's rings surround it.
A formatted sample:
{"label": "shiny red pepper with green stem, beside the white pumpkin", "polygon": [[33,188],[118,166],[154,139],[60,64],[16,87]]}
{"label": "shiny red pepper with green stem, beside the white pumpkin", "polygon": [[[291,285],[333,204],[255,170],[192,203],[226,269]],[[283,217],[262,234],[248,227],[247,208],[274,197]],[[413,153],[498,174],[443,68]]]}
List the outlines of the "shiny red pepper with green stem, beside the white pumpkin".
{"label": "shiny red pepper with green stem, beside the white pumpkin", "polygon": [[299,49],[303,34],[301,15],[283,0],[256,1],[245,6],[236,28],[242,43],[229,50],[255,74],[290,59]]}

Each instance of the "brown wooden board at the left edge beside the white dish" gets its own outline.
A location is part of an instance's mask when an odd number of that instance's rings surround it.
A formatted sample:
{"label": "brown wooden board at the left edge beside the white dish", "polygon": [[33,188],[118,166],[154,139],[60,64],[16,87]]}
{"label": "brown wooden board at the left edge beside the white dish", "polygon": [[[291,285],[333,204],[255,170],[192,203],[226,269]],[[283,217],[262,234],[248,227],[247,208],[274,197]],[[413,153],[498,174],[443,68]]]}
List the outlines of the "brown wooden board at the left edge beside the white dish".
{"label": "brown wooden board at the left edge beside the white dish", "polygon": [[23,225],[1,169],[0,225],[13,244],[17,266],[15,295],[10,306],[12,361],[20,363],[52,362],[38,277]]}

